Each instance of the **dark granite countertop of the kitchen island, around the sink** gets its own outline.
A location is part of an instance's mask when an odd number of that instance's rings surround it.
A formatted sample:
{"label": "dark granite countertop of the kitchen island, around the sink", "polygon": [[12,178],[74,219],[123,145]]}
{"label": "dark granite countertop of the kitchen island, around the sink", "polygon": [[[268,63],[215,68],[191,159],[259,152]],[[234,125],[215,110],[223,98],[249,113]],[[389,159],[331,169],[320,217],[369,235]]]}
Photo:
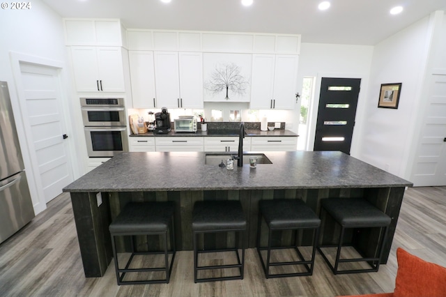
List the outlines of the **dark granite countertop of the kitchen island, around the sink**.
{"label": "dark granite countertop of the kitchen island, around the sink", "polygon": [[203,152],[120,153],[63,192],[392,188],[413,185],[338,151],[265,152],[272,164],[205,165]]}

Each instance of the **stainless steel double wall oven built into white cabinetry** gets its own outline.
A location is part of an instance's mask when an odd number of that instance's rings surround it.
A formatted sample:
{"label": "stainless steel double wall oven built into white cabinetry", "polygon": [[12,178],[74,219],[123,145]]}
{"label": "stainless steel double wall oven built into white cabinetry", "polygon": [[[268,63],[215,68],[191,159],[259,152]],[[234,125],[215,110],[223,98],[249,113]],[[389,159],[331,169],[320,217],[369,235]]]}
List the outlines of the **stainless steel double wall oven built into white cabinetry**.
{"label": "stainless steel double wall oven built into white cabinetry", "polygon": [[89,157],[113,157],[128,151],[123,98],[81,98]]}

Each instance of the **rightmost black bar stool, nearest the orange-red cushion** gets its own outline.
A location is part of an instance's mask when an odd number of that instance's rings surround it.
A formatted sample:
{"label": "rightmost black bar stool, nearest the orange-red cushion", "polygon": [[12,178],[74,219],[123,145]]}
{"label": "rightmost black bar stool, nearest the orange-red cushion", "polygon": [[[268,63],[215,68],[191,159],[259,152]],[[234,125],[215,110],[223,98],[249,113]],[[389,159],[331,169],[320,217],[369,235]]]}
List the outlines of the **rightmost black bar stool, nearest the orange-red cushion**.
{"label": "rightmost black bar stool, nearest the orange-red cushion", "polygon": [[[380,211],[378,208],[369,203],[366,199],[354,199],[354,198],[327,198],[321,199],[321,215],[323,211],[328,213],[337,224],[341,226],[341,233],[339,236],[339,242],[335,245],[318,245],[318,251],[321,252],[323,259],[327,262],[328,266],[334,274],[344,273],[364,273],[364,272],[376,272],[378,271],[381,255],[383,254],[383,246],[385,244],[385,238],[387,237],[387,229],[390,225],[391,219],[388,215]],[[346,229],[361,229],[361,228],[374,228],[379,227],[380,232],[378,241],[374,249],[374,255],[372,257],[364,257],[361,254],[361,258],[353,259],[340,259],[341,248],[348,245],[344,244],[344,237],[346,235]],[[353,246],[349,244],[350,246]],[[328,260],[326,254],[321,248],[337,248],[336,258],[334,266]],[[353,246],[353,248],[355,248]],[[357,248],[356,252],[360,253]],[[371,268],[357,268],[339,270],[340,263],[348,262],[368,262]]]}

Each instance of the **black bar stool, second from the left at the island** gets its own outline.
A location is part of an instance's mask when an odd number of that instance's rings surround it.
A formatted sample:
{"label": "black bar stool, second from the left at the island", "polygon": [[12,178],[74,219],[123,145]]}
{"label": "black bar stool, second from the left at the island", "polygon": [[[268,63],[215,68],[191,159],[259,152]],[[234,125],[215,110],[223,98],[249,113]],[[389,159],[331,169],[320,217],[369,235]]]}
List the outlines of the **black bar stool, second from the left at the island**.
{"label": "black bar stool, second from the left at the island", "polygon": [[[210,282],[215,280],[243,280],[243,270],[245,267],[245,246],[243,237],[246,230],[245,214],[243,213],[240,201],[197,201],[194,204],[192,211],[192,232],[194,245],[194,282]],[[203,243],[203,250],[198,250],[197,241],[199,234],[231,232],[236,234],[235,248],[224,248],[220,250],[206,250]],[[240,235],[240,241],[238,236]],[[238,252],[238,243],[242,247],[242,259]],[[198,266],[199,254],[207,252],[236,252],[237,264],[229,265],[213,265],[213,266]],[[228,277],[206,277],[198,278],[198,271],[238,268],[240,275]]]}

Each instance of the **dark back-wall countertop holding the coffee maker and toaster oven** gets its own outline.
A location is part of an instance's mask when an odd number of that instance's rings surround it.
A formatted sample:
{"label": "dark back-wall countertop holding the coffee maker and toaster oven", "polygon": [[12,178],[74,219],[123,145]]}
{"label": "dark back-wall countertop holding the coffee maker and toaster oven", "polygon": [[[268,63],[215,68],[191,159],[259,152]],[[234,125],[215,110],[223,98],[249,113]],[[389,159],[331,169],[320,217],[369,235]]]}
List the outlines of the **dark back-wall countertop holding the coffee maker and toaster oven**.
{"label": "dark back-wall countertop holding the coffee maker and toaster oven", "polygon": [[[166,137],[166,136],[175,136],[175,137],[191,137],[191,136],[214,136],[214,137],[222,137],[222,136],[238,136],[238,130],[208,130],[197,132],[175,132],[171,130],[167,134],[157,134],[154,135],[153,132],[147,132],[143,134],[131,134],[130,137]],[[297,137],[299,135],[295,134],[295,132],[291,132],[290,130],[284,129],[275,129],[272,131],[261,131],[261,130],[245,130],[245,136],[292,136]]]}

